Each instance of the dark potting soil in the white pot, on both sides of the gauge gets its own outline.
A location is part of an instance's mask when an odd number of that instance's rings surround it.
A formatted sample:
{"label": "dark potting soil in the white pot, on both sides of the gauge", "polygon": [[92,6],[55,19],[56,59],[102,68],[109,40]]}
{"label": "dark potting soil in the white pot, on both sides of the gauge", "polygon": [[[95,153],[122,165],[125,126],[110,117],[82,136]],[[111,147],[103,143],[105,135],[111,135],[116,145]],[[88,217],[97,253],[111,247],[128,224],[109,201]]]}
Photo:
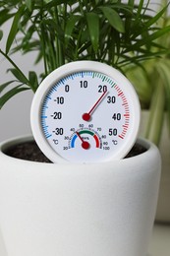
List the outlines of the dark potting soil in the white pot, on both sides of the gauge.
{"label": "dark potting soil in the white pot, on both sides of the gauge", "polygon": [[[144,153],[145,151],[146,149],[142,145],[136,143],[130,153],[125,157],[125,159],[135,157]],[[43,155],[34,141],[15,145],[9,148],[5,154],[21,160],[51,162]]]}

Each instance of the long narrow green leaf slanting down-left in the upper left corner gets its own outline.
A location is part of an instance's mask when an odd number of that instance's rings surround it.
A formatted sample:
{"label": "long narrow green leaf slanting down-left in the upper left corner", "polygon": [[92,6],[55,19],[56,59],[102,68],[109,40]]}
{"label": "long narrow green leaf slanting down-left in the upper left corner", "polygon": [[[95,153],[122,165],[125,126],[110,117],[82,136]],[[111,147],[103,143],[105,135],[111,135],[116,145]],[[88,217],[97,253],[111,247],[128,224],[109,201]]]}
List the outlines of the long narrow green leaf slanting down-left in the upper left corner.
{"label": "long narrow green leaf slanting down-left in the upper left corner", "polygon": [[12,23],[12,26],[11,26],[11,30],[8,34],[8,38],[7,38],[7,43],[6,43],[6,53],[8,54],[10,48],[11,48],[11,45],[15,39],[15,36],[18,32],[18,25],[19,25],[19,22],[20,22],[20,19],[21,19],[21,16],[24,12],[24,9],[25,7],[22,6],[19,11],[16,13],[15,17],[14,17],[14,20],[13,20],[13,23]]}

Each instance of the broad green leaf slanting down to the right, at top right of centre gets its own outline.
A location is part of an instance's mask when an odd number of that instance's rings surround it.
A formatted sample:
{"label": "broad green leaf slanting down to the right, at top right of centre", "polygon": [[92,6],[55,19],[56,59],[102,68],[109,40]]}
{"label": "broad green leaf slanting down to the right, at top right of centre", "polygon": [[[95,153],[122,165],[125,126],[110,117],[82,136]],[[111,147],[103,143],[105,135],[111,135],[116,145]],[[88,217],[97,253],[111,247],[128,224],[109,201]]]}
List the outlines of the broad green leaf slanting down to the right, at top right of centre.
{"label": "broad green leaf slanting down to the right, at top right of centre", "polygon": [[119,14],[110,7],[99,7],[99,9],[104,14],[105,18],[108,20],[109,24],[118,32],[125,32],[123,21],[121,20]]}

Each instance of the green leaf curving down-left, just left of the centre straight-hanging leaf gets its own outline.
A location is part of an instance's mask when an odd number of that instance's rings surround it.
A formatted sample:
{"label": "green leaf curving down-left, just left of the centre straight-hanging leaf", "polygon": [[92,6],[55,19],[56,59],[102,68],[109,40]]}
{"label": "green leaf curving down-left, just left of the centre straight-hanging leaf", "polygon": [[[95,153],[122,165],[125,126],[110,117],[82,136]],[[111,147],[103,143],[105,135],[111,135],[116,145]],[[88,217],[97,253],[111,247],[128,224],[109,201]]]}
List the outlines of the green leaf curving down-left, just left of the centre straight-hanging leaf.
{"label": "green leaf curving down-left, just left of the centre straight-hanging leaf", "polygon": [[66,46],[68,46],[69,40],[72,38],[72,32],[74,31],[75,25],[77,22],[79,22],[81,19],[81,16],[79,15],[73,15],[71,18],[68,20],[66,24],[66,29],[65,29],[65,43]]}

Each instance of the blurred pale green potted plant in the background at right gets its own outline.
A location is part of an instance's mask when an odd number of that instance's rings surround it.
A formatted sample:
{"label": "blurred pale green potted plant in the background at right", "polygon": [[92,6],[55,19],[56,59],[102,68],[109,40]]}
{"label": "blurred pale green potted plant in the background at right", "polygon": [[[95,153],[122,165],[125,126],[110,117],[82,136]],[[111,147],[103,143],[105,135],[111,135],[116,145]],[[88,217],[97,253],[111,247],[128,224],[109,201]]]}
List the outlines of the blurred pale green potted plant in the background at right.
{"label": "blurred pale green potted plant in the background at right", "polygon": [[[162,1],[167,4],[167,1]],[[158,22],[161,28],[170,23],[168,10]],[[157,43],[167,47],[167,52],[162,58],[145,60],[141,67],[126,69],[126,74],[133,82],[142,104],[142,129],[141,133],[160,149],[162,158],[162,174],[158,198],[156,220],[170,222],[169,205],[169,131],[170,131],[170,60],[169,60],[169,33],[157,39]],[[154,48],[157,52],[158,50]],[[140,79],[139,79],[140,78]],[[155,83],[156,81],[156,83]]]}

